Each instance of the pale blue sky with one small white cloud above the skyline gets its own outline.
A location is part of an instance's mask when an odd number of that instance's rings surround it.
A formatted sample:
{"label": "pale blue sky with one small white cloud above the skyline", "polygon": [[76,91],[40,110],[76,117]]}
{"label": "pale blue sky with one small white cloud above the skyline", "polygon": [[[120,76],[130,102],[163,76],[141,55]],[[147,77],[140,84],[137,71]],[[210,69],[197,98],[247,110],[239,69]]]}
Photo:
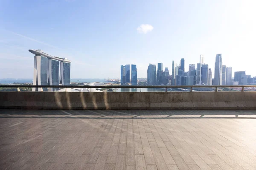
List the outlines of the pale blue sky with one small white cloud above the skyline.
{"label": "pale blue sky with one small white cloud above the skyline", "polygon": [[256,76],[255,0],[0,0],[0,78],[32,78],[29,49],[67,57],[71,78],[120,78],[120,65],[204,62]]}

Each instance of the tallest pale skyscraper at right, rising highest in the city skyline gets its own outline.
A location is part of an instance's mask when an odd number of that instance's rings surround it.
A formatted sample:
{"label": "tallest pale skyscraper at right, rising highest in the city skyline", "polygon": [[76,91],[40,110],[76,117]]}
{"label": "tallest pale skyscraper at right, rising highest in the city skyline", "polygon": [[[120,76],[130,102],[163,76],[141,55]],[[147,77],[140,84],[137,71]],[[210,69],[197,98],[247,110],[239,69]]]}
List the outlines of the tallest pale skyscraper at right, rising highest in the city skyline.
{"label": "tallest pale skyscraper at right, rising highest in the city skyline", "polygon": [[215,59],[214,85],[222,85],[222,57],[221,57],[221,54],[217,54],[216,59]]}

